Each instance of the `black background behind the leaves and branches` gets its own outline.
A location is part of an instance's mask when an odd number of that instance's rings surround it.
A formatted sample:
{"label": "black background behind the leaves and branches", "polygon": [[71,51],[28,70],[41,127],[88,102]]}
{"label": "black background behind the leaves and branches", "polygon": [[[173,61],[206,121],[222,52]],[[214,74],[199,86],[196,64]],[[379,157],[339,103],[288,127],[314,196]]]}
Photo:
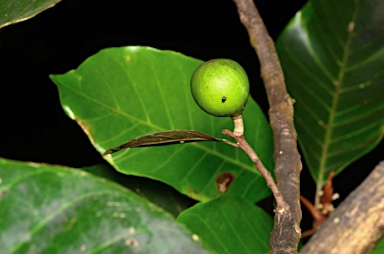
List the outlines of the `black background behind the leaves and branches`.
{"label": "black background behind the leaves and branches", "polygon": [[[306,1],[255,3],[276,40]],[[82,130],[64,114],[48,75],[75,69],[103,48],[127,45],[170,49],[202,60],[234,59],[247,71],[252,95],[267,115],[257,56],[232,1],[63,0],[30,20],[0,30],[0,157],[72,167],[103,162]],[[340,200],[383,159],[383,150],[382,142],[335,179]],[[315,185],[305,165],[301,181],[303,195],[312,200]],[[271,204],[270,199],[263,202],[269,211]],[[311,218],[305,209],[304,217],[308,229]]]}

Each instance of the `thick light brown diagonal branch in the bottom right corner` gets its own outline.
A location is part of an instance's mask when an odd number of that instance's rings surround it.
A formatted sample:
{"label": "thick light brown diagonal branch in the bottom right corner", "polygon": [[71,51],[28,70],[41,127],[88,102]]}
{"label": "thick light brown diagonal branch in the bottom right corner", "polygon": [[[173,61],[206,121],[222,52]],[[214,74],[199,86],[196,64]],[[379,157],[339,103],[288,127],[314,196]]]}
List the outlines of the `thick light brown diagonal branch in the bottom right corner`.
{"label": "thick light brown diagonal branch in the bottom right corner", "polygon": [[384,235],[384,161],[332,213],[300,253],[369,253]]}

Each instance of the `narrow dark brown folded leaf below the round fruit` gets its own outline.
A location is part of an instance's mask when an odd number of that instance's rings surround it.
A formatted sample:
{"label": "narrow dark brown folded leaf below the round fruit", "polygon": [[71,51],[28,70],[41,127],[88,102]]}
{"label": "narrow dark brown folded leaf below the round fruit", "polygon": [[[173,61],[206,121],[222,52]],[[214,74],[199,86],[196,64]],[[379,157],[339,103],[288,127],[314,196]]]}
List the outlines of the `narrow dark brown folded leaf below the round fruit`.
{"label": "narrow dark brown folded leaf below the round fruit", "polygon": [[208,134],[193,130],[171,130],[161,131],[151,135],[145,135],[138,139],[130,140],[116,148],[108,149],[103,155],[118,152],[125,148],[134,148],[142,146],[153,146],[162,144],[183,144],[185,142],[196,141],[222,141]]}

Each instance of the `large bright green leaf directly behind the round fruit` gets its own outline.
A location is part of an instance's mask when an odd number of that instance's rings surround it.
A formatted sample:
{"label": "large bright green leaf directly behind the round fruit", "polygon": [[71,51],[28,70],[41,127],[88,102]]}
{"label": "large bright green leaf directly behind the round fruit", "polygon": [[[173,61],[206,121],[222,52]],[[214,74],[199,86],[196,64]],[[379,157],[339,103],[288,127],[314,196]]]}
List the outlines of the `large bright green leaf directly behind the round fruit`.
{"label": "large bright green leaf directly behind the round fruit", "polygon": [[[174,129],[223,137],[230,118],[206,114],[194,102],[189,81],[202,63],[172,51],[148,47],[102,50],[77,70],[52,75],[66,113],[104,153],[127,140]],[[270,170],[270,127],[250,98],[244,111],[245,136]],[[234,178],[229,193],[258,201],[270,191],[252,161],[235,147],[219,142],[125,149],[105,157],[118,171],[165,182],[198,200],[221,195],[216,183],[223,173]]]}

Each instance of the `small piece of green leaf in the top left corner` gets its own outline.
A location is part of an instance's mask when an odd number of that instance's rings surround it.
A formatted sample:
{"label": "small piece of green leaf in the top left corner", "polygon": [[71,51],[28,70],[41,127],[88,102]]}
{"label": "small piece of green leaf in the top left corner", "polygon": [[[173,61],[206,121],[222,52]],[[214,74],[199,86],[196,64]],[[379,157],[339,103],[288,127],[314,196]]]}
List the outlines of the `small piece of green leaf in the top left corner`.
{"label": "small piece of green leaf in the top left corner", "polygon": [[61,0],[1,0],[0,28],[33,18]]}

